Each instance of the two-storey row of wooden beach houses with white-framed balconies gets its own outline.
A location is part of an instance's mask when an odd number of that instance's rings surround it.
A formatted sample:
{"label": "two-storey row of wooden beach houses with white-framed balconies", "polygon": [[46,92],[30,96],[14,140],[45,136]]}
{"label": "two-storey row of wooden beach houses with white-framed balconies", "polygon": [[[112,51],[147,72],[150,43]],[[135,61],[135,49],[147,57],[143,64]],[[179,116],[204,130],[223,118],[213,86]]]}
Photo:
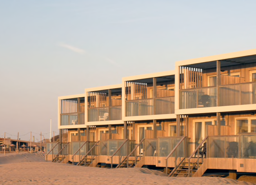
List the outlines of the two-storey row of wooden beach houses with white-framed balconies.
{"label": "two-storey row of wooden beach houses with white-framed balconies", "polygon": [[58,129],[47,161],[167,176],[256,172],[256,49],[58,97]]}

